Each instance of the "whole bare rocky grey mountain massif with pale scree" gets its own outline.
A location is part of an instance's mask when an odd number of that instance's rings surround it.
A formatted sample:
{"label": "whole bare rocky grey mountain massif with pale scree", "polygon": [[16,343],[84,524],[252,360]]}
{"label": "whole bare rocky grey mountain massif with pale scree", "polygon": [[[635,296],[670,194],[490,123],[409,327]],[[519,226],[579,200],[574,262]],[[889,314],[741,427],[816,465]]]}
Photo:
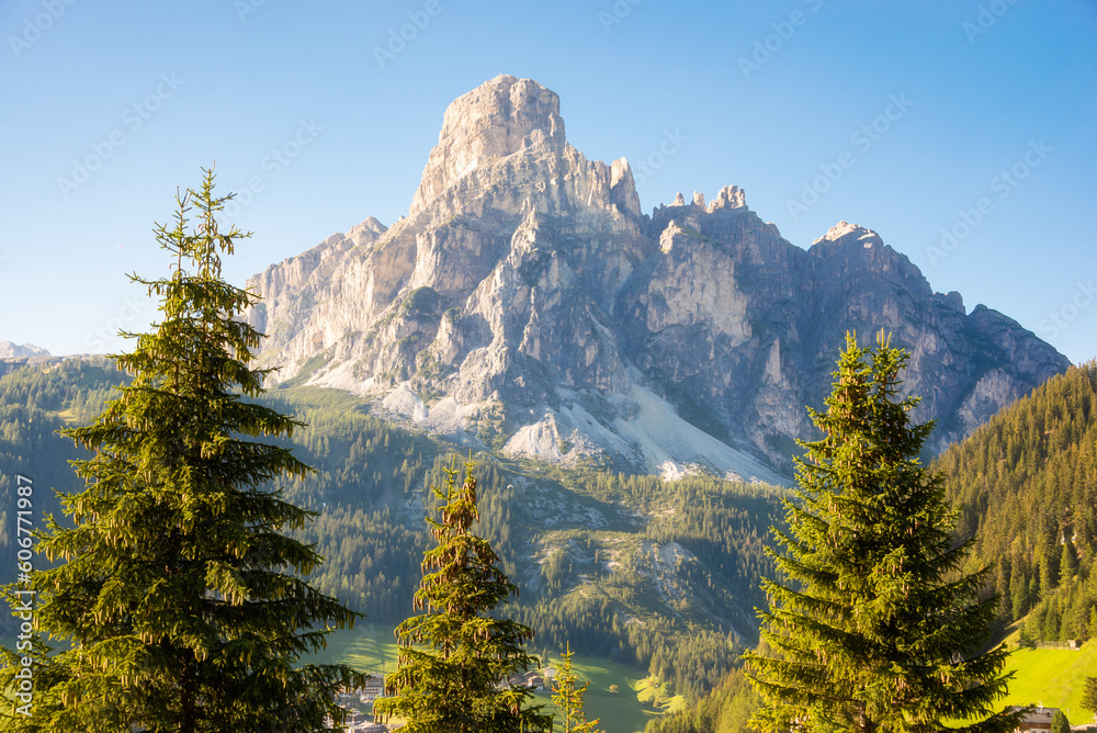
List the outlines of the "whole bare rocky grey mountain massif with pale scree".
{"label": "whole bare rocky grey mountain massif with pale scree", "polygon": [[559,98],[509,76],[446,110],[408,217],[248,284],[279,380],[375,395],[471,443],[643,471],[788,474],[847,330],[911,350],[934,449],[1068,364],[935,293],[870,229],[841,222],[804,250],[737,187],[641,214],[627,161],[588,161]]}

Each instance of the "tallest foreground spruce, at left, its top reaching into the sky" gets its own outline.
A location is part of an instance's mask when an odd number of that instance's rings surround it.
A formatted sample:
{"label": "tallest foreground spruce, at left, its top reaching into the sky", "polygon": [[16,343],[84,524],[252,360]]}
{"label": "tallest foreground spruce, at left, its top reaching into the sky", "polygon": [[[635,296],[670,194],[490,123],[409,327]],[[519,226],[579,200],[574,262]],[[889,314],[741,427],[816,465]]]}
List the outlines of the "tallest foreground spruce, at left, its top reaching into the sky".
{"label": "tallest foreground spruce, at left, its top reaching into the sky", "polygon": [[[49,517],[41,537],[56,565],[33,576],[33,704],[7,710],[3,730],[330,730],[336,690],[363,681],[344,666],[296,666],[359,614],[303,579],[323,557],[284,532],[315,512],[268,488],[310,469],[263,442],[303,424],[253,399],[262,335],[239,317],[258,296],[220,271],[220,252],[249,236],[218,230],[230,198],[214,195],[206,170],[155,230],[170,275],[131,275],[162,319],[125,334],[136,348],[114,359],[132,382],[65,431],[92,458],[75,462],[86,487],[63,497],[64,526]],[[49,654],[46,638],[64,651]],[[20,655],[4,656],[0,685],[12,689]]]}

